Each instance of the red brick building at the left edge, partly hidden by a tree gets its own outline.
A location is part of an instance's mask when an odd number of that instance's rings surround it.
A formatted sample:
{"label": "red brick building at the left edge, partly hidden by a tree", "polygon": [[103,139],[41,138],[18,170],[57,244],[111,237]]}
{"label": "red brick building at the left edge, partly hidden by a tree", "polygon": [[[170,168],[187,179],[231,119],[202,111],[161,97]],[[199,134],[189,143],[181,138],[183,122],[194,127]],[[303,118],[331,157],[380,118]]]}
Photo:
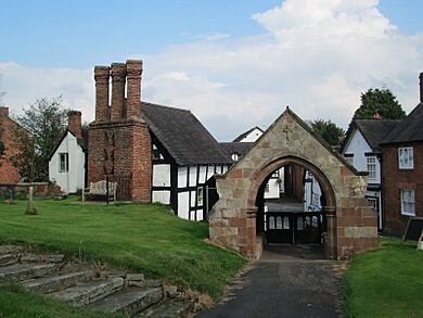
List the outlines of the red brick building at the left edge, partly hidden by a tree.
{"label": "red brick building at the left edge, partly hidden by a tree", "polygon": [[0,158],[0,183],[16,183],[21,180],[20,173],[11,162],[11,157],[17,154],[14,141],[16,129],[24,128],[9,117],[9,107],[0,107],[0,141],[4,147]]}

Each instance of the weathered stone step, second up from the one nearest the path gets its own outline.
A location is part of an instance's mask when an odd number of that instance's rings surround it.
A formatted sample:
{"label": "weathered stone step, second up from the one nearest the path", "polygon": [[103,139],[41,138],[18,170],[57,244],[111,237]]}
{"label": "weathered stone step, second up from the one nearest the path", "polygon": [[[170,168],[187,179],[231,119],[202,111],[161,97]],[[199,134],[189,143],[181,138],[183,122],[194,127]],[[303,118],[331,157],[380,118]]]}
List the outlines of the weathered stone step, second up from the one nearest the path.
{"label": "weathered stone step, second up from the one nearest the path", "polygon": [[124,313],[132,316],[163,298],[161,288],[126,288],[115,294],[89,305],[93,310],[103,313]]}

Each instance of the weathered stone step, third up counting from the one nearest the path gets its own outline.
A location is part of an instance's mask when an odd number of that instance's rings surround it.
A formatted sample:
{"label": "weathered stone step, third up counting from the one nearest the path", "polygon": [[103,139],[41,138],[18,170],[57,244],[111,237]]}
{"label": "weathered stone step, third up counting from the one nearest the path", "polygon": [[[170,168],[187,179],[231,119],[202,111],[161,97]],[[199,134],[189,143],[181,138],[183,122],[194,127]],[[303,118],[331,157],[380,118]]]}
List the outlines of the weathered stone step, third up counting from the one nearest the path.
{"label": "weathered stone step, third up counting from the one nearest the path", "polygon": [[112,277],[104,280],[91,280],[78,283],[50,294],[53,298],[69,302],[74,306],[84,306],[115,293],[124,287],[121,277]]}

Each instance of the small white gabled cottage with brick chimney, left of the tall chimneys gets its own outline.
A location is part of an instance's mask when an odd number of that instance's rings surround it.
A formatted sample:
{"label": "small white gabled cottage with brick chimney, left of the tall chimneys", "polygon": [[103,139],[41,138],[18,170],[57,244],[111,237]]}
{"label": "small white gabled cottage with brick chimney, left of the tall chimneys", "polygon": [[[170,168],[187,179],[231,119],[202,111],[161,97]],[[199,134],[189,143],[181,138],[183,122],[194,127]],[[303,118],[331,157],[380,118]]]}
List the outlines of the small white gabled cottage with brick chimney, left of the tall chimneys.
{"label": "small white gabled cottage with brick chimney, left of the tall chimneys", "polygon": [[87,130],[81,127],[81,113],[68,113],[68,127],[49,158],[49,179],[65,193],[86,188]]}

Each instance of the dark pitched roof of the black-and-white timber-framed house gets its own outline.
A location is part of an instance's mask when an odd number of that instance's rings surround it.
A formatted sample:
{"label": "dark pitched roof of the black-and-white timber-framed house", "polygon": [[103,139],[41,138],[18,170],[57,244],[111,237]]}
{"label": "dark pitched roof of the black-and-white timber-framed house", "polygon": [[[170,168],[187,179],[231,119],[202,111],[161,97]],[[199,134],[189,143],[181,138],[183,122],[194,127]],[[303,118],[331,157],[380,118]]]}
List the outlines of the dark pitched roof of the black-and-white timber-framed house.
{"label": "dark pitched roof of the black-and-white timber-framed house", "polygon": [[178,165],[232,164],[190,111],[141,102],[141,116]]}

